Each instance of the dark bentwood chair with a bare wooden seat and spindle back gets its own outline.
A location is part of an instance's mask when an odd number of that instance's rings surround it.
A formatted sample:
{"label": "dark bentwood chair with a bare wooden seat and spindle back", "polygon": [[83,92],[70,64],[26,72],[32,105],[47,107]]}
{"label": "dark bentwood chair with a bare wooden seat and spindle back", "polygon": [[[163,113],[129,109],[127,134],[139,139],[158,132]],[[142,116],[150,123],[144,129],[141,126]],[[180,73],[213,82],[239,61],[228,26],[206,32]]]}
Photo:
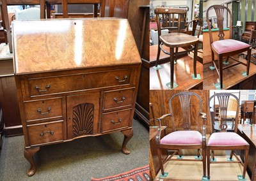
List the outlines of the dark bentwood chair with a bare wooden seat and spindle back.
{"label": "dark bentwood chair with a bare wooden seat and spindle back", "polygon": [[[156,8],[156,22],[157,22],[157,31],[158,31],[158,49],[157,49],[157,59],[155,69],[160,69],[159,66],[159,57],[160,52],[163,50],[164,54],[170,55],[170,88],[173,89],[173,76],[174,76],[174,64],[178,55],[188,54],[188,52],[194,51],[194,62],[193,62],[193,71],[194,77],[196,78],[196,58],[197,58],[197,47],[198,47],[198,38],[184,33],[181,31],[181,19],[186,17],[187,10],[184,8]],[[161,19],[162,18],[162,26]],[[168,29],[168,34],[161,34],[161,30]],[[169,48],[165,50],[163,45]],[[178,52],[179,47],[186,47],[186,50]],[[175,50],[174,50],[175,49]]]}

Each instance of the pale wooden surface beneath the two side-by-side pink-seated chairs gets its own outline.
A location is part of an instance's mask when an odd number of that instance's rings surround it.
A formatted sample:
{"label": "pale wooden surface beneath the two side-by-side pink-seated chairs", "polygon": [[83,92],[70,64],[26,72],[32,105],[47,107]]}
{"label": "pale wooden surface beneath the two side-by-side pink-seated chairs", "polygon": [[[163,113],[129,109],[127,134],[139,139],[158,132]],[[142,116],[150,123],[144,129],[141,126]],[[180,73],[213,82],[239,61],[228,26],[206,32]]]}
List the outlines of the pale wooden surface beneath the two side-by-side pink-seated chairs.
{"label": "pale wooden surface beneath the two side-by-side pink-seated chairs", "polygon": [[[184,156],[184,159],[192,156]],[[217,161],[227,161],[226,156],[216,156]],[[236,160],[236,157],[234,157]],[[202,180],[203,166],[201,161],[168,161],[164,164],[164,172],[168,172],[166,178],[159,177],[157,173],[155,180]],[[243,174],[243,166],[239,163],[211,164],[211,180],[238,180],[237,175]],[[250,177],[246,173],[246,179]]]}

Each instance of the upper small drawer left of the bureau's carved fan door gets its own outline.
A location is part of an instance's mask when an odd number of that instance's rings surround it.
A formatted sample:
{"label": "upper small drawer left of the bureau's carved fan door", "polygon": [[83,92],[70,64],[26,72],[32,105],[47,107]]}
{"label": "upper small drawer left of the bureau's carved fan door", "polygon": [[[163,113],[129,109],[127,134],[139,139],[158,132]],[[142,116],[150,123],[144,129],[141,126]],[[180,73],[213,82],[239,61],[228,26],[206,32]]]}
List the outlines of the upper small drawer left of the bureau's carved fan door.
{"label": "upper small drawer left of the bureau's carved fan door", "polygon": [[62,117],[62,98],[24,102],[26,120]]}

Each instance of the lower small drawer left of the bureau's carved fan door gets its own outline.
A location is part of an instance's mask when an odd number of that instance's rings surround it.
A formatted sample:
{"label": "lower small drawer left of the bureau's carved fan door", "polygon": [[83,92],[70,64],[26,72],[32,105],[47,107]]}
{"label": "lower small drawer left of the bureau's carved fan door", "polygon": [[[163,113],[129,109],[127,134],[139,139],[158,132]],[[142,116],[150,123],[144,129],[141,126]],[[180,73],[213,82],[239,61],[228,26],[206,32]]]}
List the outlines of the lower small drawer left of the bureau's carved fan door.
{"label": "lower small drawer left of the bureau's carved fan door", "polygon": [[63,141],[63,120],[27,126],[30,145]]}

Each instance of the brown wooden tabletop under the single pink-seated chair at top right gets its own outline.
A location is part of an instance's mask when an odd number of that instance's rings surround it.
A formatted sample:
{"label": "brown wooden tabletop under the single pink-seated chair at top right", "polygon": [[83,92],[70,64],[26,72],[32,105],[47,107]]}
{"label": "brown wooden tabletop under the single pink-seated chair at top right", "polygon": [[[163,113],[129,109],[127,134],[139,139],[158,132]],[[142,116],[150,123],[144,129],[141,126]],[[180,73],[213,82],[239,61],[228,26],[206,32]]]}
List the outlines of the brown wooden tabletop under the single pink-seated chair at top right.
{"label": "brown wooden tabletop under the single pink-seated chair at top right", "polygon": [[[246,60],[243,59],[242,57],[239,57],[239,59],[241,61],[246,62]],[[230,62],[230,64],[232,64],[235,61],[230,59],[230,61],[228,61],[228,62]],[[211,70],[209,68],[209,66],[211,66],[211,63],[204,64],[204,89],[205,90],[216,89],[215,84],[220,83],[219,76],[218,76],[216,69]],[[223,89],[228,89],[228,88],[236,85],[237,83],[240,83],[243,80],[246,80],[250,76],[255,75],[256,66],[253,63],[250,64],[249,75],[246,77],[241,75],[241,73],[243,71],[246,71],[246,66],[244,66],[243,64],[233,66],[232,68],[224,69],[223,70],[223,85],[224,85]]]}

